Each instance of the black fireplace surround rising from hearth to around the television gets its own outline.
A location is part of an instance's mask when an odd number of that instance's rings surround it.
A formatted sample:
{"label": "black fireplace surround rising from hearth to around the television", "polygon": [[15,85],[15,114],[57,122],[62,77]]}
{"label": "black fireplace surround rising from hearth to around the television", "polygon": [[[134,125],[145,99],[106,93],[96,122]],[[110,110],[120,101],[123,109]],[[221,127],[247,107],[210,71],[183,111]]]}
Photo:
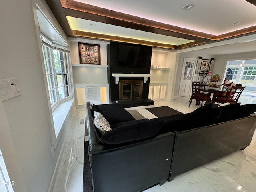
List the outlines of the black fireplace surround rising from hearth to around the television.
{"label": "black fireplace surround rising from hearth to around the television", "polygon": [[[152,49],[152,48],[151,48]],[[108,62],[108,84],[109,84],[109,92],[110,92],[110,102],[116,103],[125,101],[125,103],[131,101],[136,102],[137,100],[148,100],[148,92],[149,92],[149,82],[150,77],[148,77],[147,81],[144,82],[144,77],[120,77],[119,82],[123,82],[124,80],[132,80],[132,82],[142,81],[142,91],[139,98],[121,98],[120,99],[120,85],[116,84],[116,78],[112,76],[112,74],[150,74],[150,65],[151,65],[151,56],[150,60],[147,61],[146,66],[133,67],[133,66],[119,66],[118,65],[118,43],[110,42],[107,45],[107,62]],[[126,87],[127,88],[127,87]],[[151,101],[152,102],[152,101]],[[151,103],[152,104],[152,103]],[[154,102],[153,102],[154,104]],[[148,104],[142,104],[148,105]],[[139,105],[138,105],[139,106]]]}

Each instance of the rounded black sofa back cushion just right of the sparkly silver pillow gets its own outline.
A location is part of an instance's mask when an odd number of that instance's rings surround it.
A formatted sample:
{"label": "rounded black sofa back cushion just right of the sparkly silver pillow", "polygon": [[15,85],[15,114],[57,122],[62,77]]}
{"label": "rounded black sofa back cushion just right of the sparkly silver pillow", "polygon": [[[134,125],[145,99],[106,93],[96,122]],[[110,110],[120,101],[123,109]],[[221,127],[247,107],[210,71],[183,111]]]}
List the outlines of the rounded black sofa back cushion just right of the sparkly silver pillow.
{"label": "rounded black sofa back cushion just right of the sparkly silver pillow", "polygon": [[116,127],[102,135],[100,140],[108,145],[138,142],[155,137],[162,125],[163,122],[157,119],[138,121]]}

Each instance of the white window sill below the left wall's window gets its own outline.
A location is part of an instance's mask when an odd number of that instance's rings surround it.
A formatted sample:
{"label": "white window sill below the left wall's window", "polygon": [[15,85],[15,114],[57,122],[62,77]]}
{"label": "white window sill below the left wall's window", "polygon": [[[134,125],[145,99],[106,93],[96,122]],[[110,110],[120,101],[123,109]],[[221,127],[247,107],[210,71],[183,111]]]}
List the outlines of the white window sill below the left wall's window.
{"label": "white window sill below the left wall's window", "polygon": [[52,112],[55,136],[57,138],[60,130],[72,109],[72,105],[74,104],[74,99],[70,99],[60,103],[55,110]]}

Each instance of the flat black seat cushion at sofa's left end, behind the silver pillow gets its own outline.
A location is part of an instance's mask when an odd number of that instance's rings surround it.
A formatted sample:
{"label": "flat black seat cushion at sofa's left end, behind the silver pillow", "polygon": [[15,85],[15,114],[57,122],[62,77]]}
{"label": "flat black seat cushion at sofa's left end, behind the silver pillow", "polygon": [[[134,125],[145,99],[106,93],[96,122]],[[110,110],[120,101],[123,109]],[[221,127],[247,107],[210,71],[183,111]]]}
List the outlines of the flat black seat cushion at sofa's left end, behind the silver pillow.
{"label": "flat black seat cushion at sofa's left end, behind the silver pillow", "polygon": [[100,110],[110,125],[135,120],[133,116],[119,104],[93,105],[93,110]]}

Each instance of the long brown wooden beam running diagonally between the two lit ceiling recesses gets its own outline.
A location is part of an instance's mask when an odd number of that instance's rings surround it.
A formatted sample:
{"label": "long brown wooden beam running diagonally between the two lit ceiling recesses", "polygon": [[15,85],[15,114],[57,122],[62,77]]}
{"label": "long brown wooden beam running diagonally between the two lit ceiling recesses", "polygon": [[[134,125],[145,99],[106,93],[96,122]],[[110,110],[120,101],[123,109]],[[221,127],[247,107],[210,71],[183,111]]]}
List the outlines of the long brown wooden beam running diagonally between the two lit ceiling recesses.
{"label": "long brown wooden beam running diagonally between the two lit ceiling recesses", "polygon": [[66,16],[200,42],[213,42],[215,37],[214,35],[180,28],[73,0],[61,0],[61,3]]}

